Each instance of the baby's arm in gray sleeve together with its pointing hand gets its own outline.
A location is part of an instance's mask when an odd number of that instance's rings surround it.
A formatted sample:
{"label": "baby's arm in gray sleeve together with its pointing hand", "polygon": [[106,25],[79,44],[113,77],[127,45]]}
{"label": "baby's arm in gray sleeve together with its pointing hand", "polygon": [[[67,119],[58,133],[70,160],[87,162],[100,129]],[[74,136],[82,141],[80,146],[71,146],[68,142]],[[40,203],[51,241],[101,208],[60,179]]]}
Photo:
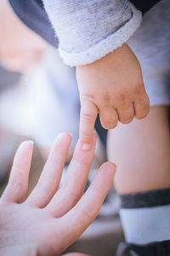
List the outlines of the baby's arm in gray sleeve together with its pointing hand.
{"label": "baby's arm in gray sleeve together with its pointing hand", "polygon": [[77,66],[80,137],[88,150],[97,113],[107,129],[148,113],[139,61],[123,44],[139,27],[141,14],[127,0],[43,2],[59,37],[60,55]]}

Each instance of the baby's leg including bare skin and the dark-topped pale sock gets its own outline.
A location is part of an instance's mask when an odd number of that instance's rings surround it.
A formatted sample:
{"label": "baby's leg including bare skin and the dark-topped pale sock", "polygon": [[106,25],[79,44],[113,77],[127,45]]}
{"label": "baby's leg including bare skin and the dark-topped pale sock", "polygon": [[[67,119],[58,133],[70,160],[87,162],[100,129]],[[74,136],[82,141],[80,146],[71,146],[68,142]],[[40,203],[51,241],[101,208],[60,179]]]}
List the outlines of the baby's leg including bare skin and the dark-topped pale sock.
{"label": "baby's leg including bare skin and the dark-topped pale sock", "polygon": [[[108,158],[117,165],[122,226],[128,247],[137,255],[170,253],[165,249],[170,240],[169,138],[168,111],[163,106],[150,108],[145,119],[120,124],[108,135]],[[165,254],[151,254],[150,243],[163,247]]]}

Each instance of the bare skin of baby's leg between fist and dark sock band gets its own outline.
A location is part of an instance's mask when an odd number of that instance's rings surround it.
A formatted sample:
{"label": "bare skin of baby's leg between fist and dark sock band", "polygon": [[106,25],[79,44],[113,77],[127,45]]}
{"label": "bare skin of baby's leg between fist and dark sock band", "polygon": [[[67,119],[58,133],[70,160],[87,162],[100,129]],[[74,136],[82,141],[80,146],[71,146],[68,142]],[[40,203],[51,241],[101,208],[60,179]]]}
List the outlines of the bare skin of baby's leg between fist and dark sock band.
{"label": "bare skin of baby's leg between fist and dark sock band", "polygon": [[119,124],[108,135],[108,158],[117,165],[116,189],[135,193],[170,187],[168,109],[150,108],[142,120]]}

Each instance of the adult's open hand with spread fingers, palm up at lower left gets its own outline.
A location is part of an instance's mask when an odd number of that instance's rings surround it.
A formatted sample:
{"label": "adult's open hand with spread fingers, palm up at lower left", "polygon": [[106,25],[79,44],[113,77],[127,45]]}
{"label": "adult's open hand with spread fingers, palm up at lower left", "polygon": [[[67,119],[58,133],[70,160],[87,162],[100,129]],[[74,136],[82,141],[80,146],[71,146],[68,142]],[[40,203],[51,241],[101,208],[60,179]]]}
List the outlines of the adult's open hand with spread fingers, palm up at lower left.
{"label": "adult's open hand with spread fingers, palm up at lower left", "polygon": [[60,255],[93,222],[116,171],[114,164],[105,163],[82,195],[94,157],[95,141],[94,135],[88,152],[77,143],[65,181],[59,188],[71,143],[69,134],[60,134],[37,186],[26,200],[33,144],[21,143],[0,199],[0,255]]}

